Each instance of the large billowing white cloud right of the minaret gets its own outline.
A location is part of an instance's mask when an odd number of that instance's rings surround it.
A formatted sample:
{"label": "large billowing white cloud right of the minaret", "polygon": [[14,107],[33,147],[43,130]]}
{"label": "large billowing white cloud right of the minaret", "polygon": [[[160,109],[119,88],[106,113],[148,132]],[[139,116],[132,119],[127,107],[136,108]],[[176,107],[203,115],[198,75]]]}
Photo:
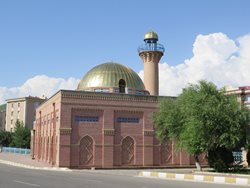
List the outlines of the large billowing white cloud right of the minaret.
{"label": "large billowing white cloud right of the minaret", "polygon": [[[223,33],[198,35],[192,58],[176,66],[162,63],[159,70],[160,95],[178,95],[202,79],[218,87],[250,85],[250,34],[235,41]],[[143,71],[139,75],[143,77]]]}

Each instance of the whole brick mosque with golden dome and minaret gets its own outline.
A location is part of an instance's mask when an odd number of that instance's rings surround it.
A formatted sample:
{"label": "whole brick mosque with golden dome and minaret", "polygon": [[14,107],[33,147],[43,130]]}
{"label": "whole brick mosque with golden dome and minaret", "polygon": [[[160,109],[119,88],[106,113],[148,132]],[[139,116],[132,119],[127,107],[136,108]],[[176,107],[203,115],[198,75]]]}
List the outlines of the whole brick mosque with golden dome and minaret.
{"label": "whole brick mosque with golden dome and minaret", "polygon": [[32,157],[68,168],[193,165],[174,142],[155,137],[152,114],[164,98],[158,96],[164,46],[155,32],[145,34],[138,53],[144,83],[127,66],[107,62],[87,72],[76,90],[60,90],[39,106]]}

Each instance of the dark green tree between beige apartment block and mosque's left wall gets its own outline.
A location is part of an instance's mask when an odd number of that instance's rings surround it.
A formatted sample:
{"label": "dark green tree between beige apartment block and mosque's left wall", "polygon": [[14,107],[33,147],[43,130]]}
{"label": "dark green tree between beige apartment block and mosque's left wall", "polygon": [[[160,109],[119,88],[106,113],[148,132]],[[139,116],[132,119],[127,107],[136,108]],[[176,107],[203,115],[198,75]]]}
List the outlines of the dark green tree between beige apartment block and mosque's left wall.
{"label": "dark green tree between beige apartment block and mosque's left wall", "polygon": [[23,122],[17,120],[11,145],[18,148],[30,148],[30,137],[30,130],[24,127]]}

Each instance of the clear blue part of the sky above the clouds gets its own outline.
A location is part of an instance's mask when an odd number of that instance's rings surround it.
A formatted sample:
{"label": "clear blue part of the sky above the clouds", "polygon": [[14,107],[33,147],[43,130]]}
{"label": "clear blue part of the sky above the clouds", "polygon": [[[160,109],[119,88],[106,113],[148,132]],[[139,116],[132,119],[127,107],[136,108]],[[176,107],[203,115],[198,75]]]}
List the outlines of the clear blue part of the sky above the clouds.
{"label": "clear blue part of the sky above the clouds", "polygon": [[192,56],[198,34],[249,33],[248,0],[10,0],[0,2],[0,86],[21,85],[45,74],[81,78],[113,60],[135,71],[137,46],[149,30],[166,48],[162,62]]}

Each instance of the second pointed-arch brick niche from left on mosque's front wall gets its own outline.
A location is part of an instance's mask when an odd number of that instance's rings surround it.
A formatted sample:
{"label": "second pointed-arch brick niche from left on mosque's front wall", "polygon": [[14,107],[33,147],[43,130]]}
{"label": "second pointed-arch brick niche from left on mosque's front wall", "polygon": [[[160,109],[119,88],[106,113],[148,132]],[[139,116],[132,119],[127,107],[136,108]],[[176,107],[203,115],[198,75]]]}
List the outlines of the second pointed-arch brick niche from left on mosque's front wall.
{"label": "second pointed-arch brick niche from left on mosque's front wall", "polygon": [[135,159],[134,153],[134,140],[130,136],[127,136],[122,141],[122,165],[133,165]]}

